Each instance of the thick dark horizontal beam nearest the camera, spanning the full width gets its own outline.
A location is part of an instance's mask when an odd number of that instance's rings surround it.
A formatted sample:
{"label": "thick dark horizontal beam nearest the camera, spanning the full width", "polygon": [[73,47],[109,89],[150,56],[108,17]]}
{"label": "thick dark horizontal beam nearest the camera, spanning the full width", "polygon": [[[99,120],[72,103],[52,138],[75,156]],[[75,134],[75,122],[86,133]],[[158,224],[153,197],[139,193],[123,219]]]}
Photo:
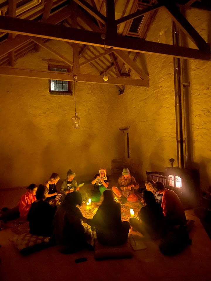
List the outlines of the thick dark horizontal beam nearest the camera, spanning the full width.
{"label": "thick dark horizontal beam nearest the camera, spanning the full width", "polygon": [[[68,28],[61,25],[39,23],[32,20],[0,16],[0,31],[104,47],[100,33]],[[210,48],[207,48],[206,51],[200,51],[186,47],[149,42],[140,38],[127,37],[126,40],[125,36],[121,35],[110,37],[108,34],[105,39],[105,47],[132,52],[161,54],[183,59],[210,61]]]}

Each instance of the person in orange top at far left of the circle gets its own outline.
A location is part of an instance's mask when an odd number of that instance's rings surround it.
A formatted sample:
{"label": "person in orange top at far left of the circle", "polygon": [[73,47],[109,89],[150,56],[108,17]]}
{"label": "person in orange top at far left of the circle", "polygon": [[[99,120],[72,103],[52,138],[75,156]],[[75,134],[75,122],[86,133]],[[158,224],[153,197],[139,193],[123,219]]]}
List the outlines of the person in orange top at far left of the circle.
{"label": "person in orange top at far left of the circle", "polygon": [[37,191],[36,184],[30,184],[27,187],[28,191],[21,196],[18,207],[20,212],[20,217],[25,217],[28,215],[28,211],[31,208],[31,204],[36,200],[35,193]]}

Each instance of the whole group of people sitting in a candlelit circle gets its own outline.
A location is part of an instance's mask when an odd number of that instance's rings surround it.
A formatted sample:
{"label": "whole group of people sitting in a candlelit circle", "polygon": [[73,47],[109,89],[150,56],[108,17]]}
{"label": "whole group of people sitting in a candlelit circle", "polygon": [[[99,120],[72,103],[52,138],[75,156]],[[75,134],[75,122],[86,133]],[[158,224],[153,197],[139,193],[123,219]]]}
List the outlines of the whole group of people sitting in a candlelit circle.
{"label": "whole group of people sitting in a candlelit circle", "polygon": [[[19,202],[20,216],[29,221],[30,233],[51,237],[51,241],[60,245],[61,253],[74,253],[80,249],[92,250],[91,234],[84,223],[96,230],[96,237],[103,245],[121,245],[127,241],[130,227],[152,239],[165,237],[175,225],[185,225],[186,216],[177,194],[166,189],[162,182],[146,181],[142,193],[137,193],[139,184],[129,170],[124,168],[118,179],[118,185],[108,189],[109,179],[106,170],[101,169],[91,183],[94,186],[92,200],[103,198],[92,219],[83,216],[80,208],[83,193],[74,179],[72,170],[61,184],[64,194],[60,205],[49,201],[57,195],[56,184],[59,175],[53,173],[45,184],[30,184]],[[115,200],[116,199],[116,200]],[[118,201],[117,201],[118,200]],[[121,204],[141,202],[139,220],[132,217],[121,220]]]}

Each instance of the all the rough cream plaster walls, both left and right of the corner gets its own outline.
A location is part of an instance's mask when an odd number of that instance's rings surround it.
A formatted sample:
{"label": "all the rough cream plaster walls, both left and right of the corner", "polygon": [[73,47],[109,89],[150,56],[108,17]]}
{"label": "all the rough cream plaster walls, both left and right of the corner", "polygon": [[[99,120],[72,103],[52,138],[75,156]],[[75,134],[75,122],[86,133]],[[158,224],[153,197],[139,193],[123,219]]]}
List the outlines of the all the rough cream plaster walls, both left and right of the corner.
{"label": "all the rough cream plaster walls, both left and right of the corner", "polygon": [[[205,40],[209,16],[197,9],[187,14]],[[171,18],[159,9],[147,40],[171,44],[170,26]],[[69,44],[48,44],[72,58]],[[19,59],[16,67],[47,69],[42,58],[57,59],[40,49]],[[113,158],[124,155],[119,131],[124,126],[130,126],[130,158],[140,163],[141,179],[146,179],[146,171],[164,171],[170,158],[177,166],[173,58],[146,54],[145,60],[149,88],[126,86],[118,96],[114,86],[76,83],[79,129],[72,128],[70,120],[73,96],[50,95],[47,80],[0,76],[1,188],[40,183],[52,172],[64,178],[69,168],[78,179],[89,179],[99,167],[109,169]],[[141,56],[137,61],[141,64]],[[201,187],[207,189],[211,185],[211,63],[190,60],[189,67],[191,160],[193,167],[200,167]],[[91,69],[86,66],[82,72],[91,73]]]}

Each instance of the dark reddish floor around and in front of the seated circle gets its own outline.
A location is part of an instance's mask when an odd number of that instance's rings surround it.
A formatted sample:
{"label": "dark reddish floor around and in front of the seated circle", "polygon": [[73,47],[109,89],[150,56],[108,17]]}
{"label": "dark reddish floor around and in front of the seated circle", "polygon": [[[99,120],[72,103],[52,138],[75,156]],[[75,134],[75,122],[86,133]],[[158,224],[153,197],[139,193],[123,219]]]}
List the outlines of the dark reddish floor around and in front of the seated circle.
{"label": "dark reddish floor around and in front of the seated circle", "polygon": [[[25,189],[0,191],[0,208],[17,205]],[[29,256],[22,256],[9,241],[16,234],[12,229],[0,231],[0,276],[2,281],[58,281],[58,280],[142,280],[142,281],[209,281],[211,280],[211,240],[194,210],[186,210],[186,217],[195,220],[190,231],[192,245],[175,256],[159,251],[159,240],[143,237],[147,249],[133,250],[133,258],[96,261],[93,252],[86,250],[63,255],[57,246]],[[75,263],[86,257],[87,262]]]}

